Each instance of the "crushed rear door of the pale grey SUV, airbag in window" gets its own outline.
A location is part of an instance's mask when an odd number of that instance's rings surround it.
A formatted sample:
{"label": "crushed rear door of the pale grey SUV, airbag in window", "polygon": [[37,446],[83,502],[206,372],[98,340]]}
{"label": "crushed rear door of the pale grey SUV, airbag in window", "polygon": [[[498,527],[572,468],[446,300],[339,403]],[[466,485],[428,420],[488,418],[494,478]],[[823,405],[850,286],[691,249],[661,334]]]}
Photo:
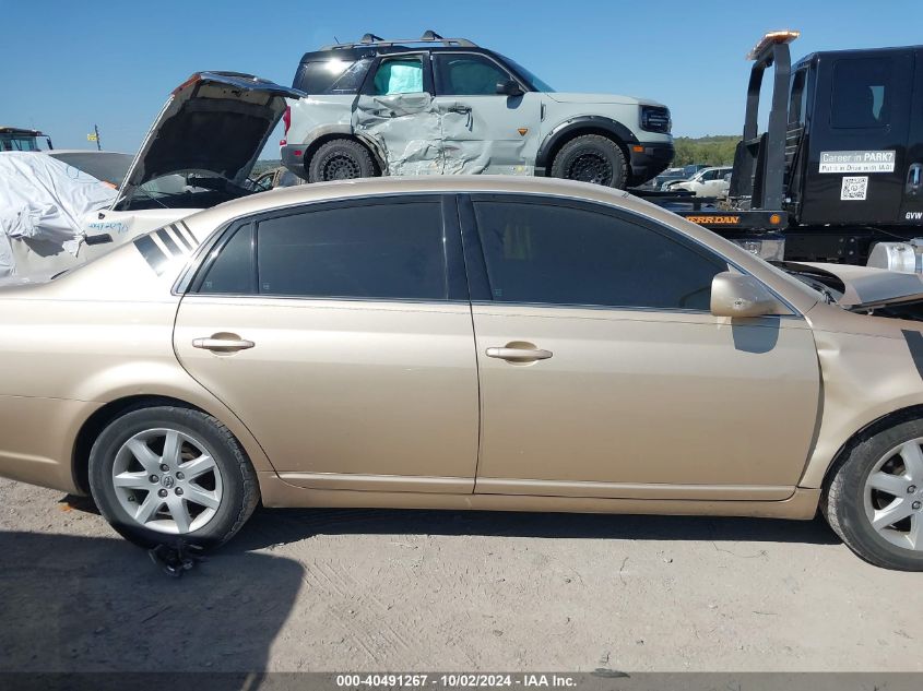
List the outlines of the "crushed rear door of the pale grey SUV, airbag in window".
{"label": "crushed rear door of the pale grey SUV, airbag in window", "polygon": [[442,172],[442,130],[428,52],[391,53],[372,65],[353,106],[353,131],[371,139],[388,175]]}

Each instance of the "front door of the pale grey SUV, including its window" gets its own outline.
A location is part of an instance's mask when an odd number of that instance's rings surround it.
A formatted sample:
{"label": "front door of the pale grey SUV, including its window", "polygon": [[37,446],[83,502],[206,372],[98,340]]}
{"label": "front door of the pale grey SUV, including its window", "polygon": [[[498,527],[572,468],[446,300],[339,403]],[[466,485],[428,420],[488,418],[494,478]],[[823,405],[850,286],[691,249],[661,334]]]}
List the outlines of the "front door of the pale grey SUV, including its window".
{"label": "front door of the pale grey SUV, including its window", "polygon": [[[541,95],[528,91],[493,58],[433,52],[446,174],[532,175],[539,151]],[[497,93],[516,82],[521,93]]]}

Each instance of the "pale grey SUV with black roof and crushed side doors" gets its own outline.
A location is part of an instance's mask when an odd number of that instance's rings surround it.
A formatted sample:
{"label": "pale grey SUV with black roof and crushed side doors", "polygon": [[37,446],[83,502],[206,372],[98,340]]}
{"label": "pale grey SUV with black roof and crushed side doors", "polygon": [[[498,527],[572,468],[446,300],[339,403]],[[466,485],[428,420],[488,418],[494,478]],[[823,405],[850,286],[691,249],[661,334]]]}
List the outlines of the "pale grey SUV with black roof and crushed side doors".
{"label": "pale grey SUV with black roof and crushed side doors", "polygon": [[336,44],[307,52],[282,162],[311,182],[379,175],[553,176],[625,188],[673,159],[670,110],[567,94],[464,38]]}

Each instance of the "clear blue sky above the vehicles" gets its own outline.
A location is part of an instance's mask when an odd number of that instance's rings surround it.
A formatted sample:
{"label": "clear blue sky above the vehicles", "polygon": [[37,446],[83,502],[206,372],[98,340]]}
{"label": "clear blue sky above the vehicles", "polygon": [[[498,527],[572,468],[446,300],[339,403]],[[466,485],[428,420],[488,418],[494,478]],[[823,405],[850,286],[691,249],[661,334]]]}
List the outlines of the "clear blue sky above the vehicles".
{"label": "clear blue sky above the vehicles", "polygon": [[[301,55],[371,32],[431,28],[502,52],[557,91],[653,98],[679,136],[738,134],[746,52],[767,31],[814,50],[923,43],[923,0],[0,0],[0,124],[133,153],[192,72],[291,84]],[[277,157],[276,132],[263,157]]]}

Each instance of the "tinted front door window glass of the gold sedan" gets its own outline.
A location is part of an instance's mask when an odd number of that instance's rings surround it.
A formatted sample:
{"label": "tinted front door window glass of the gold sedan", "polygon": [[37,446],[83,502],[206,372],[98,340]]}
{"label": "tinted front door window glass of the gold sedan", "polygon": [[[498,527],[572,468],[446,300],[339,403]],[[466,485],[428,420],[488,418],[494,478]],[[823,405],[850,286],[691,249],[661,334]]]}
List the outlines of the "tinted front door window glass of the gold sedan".
{"label": "tinted front door window glass of the gold sedan", "polygon": [[708,310],[719,258],[607,213],[476,202],[487,276],[502,302]]}

